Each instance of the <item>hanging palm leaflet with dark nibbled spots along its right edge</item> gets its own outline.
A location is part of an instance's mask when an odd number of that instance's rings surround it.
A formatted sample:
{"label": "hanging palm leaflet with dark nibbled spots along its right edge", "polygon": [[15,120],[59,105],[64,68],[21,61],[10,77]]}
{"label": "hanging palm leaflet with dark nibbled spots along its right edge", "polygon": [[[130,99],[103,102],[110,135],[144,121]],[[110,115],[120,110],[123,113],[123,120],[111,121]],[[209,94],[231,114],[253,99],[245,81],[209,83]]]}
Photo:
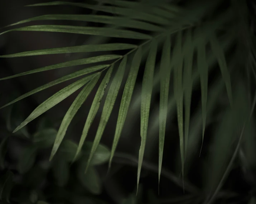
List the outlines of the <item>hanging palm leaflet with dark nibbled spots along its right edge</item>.
{"label": "hanging palm leaflet with dark nibbled spots along its right edge", "polygon": [[88,133],[90,127],[91,127],[92,121],[95,118],[96,113],[98,112],[98,109],[100,107],[100,102],[101,102],[101,99],[102,99],[103,94],[105,92],[105,88],[106,88],[106,86],[107,86],[107,84],[108,84],[108,82],[110,80],[110,76],[111,76],[112,71],[113,71],[113,65],[108,69],[105,77],[103,78],[103,80],[101,81],[100,86],[98,87],[98,90],[97,90],[96,95],[95,95],[95,97],[93,99],[90,111],[88,113],[86,122],[84,124],[82,136],[80,138],[80,141],[79,141],[79,144],[78,144],[78,148],[77,148],[77,152],[76,152],[76,155],[74,157],[74,160],[76,160],[76,158],[78,157],[79,153],[81,152],[81,149],[83,147],[83,143],[84,143],[84,141],[86,139],[86,136],[87,136],[87,133]]}

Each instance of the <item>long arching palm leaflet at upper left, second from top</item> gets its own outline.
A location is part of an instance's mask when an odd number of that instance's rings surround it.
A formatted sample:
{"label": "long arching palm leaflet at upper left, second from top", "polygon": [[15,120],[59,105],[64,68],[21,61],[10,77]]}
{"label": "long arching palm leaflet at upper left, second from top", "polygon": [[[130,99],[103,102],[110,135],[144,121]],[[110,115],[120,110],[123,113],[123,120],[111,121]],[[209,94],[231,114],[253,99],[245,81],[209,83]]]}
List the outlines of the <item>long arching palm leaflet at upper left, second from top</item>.
{"label": "long arching palm leaflet at upper left, second from top", "polygon": [[97,22],[103,24],[112,24],[121,27],[130,27],[141,30],[148,31],[161,31],[163,30],[161,27],[142,22],[138,20],[132,20],[125,17],[117,17],[117,16],[103,16],[103,15],[61,15],[61,14],[52,14],[52,15],[43,15],[37,16],[30,19],[26,19],[23,21],[16,22],[13,25],[19,25],[30,21],[38,21],[38,20],[73,20],[73,21],[87,21],[87,22]]}

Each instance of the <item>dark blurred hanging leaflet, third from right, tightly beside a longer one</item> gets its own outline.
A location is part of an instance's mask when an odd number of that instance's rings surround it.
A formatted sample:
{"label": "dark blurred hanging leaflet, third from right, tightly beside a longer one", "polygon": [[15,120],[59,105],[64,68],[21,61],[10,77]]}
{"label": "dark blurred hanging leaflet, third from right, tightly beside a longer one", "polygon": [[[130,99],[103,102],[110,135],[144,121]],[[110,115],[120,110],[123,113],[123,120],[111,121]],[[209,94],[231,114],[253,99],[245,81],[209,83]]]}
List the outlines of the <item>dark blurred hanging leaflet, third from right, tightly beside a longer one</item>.
{"label": "dark blurred hanging leaflet, third from right, tightly beside a longer one", "polygon": [[[193,43],[192,43],[192,31],[188,29],[185,37],[185,45],[183,47],[184,54],[184,103],[185,103],[185,121],[184,121],[184,145],[185,151],[184,156],[187,155],[187,146],[188,146],[188,132],[189,132],[189,120],[190,120],[190,104],[191,104],[191,95],[192,95],[192,66],[193,66]],[[186,50],[184,50],[186,49]]]}

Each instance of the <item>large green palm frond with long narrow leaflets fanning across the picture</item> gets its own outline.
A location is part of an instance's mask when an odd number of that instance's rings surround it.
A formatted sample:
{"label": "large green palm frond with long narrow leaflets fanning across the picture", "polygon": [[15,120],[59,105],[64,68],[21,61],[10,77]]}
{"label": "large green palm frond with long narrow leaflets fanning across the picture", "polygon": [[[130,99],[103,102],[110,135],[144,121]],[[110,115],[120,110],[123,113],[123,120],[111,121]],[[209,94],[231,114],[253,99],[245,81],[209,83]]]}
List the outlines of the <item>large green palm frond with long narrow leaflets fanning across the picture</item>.
{"label": "large green palm frond with long narrow leaflets fanning across the picture", "polygon": [[[68,109],[66,115],[63,118],[62,124],[59,128],[57,137],[54,142],[52,154],[50,159],[53,158],[57,152],[67,131],[69,124],[71,123],[74,115],[79,110],[80,106],[84,103],[92,89],[96,86],[100,76],[103,75],[103,71],[106,71],[100,85],[98,86],[96,95],[94,96],[91,104],[90,111],[88,113],[86,122],[84,124],[81,139],[79,141],[76,153],[74,153],[74,160],[78,158],[79,153],[82,150],[82,146],[87,137],[88,131],[91,127],[96,113],[100,107],[101,100],[105,93],[105,88],[110,81],[113,68],[120,63],[110,88],[106,91],[106,100],[103,106],[100,123],[98,125],[97,133],[94,142],[91,146],[90,155],[88,161],[81,166],[81,172],[84,169],[92,171],[90,163],[93,162],[95,152],[98,148],[98,144],[101,140],[108,119],[110,118],[113,106],[115,104],[117,94],[120,91],[121,83],[124,78],[124,73],[127,66],[127,58],[134,54],[130,72],[128,74],[127,81],[125,83],[124,91],[122,93],[121,104],[119,107],[119,114],[116,124],[115,136],[113,139],[112,150],[110,154],[109,168],[117,148],[117,144],[121,137],[122,129],[124,127],[125,119],[129,111],[131,97],[134,91],[137,73],[140,68],[140,64],[144,61],[144,55],[146,57],[146,65],[144,69],[142,90],[141,90],[141,122],[140,122],[140,136],[141,146],[139,150],[138,169],[137,169],[137,185],[139,185],[141,166],[143,163],[144,151],[146,146],[146,138],[149,128],[149,115],[150,115],[150,103],[152,97],[153,86],[156,87],[157,83],[154,81],[154,72],[158,69],[155,66],[157,62],[156,55],[158,48],[161,51],[160,58],[160,75],[157,82],[160,80],[160,106],[155,123],[151,128],[155,128],[159,125],[159,180],[161,174],[161,165],[163,160],[163,148],[165,139],[166,121],[170,115],[174,115],[175,108],[177,109],[178,118],[178,130],[180,141],[180,155],[182,164],[182,175],[184,175],[184,164],[186,161],[191,162],[191,155],[189,153],[194,152],[193,148],[197,148],[198,145],[193,146],[193,143],[198,143],[198,135],[204,138],[204,132],[207,124],[207,117],[212,114],[214,104],[217,100],[218,93],[222,90],[224,84],[226,85],[228,99],[231,107],[233,104],[232,88],[230,80],[230,66],[227,66],[226,51],[230,49],[234,40],[236,40],[235,32],[232,32],[234,25],[230,22],[234,19],[233,9],[226,9],[221,11],[220,14],[216,14],[214,9],[220,5],[220,0],[204,2],[196,1],[186,2],[184,6],[178,6],[177,4],[168,4],[164,1],[159,1],[158,4],[151,2],[145,4],[145,2],[137,1],[125,1],[125,0],[96,0],[102,2],[101,5],[91,5],[85,3],[73,3],[64,1],[47,2],[41,4],[34,4],[29,6],[53,6],[53,5],[67,5],[78,6],[93,11],[102,11],[105,15],[42,15],[33,17],[30,19],[22,20],[11,24],[9,26],[21,25],[26,22],[35,22],[37,24],[40,20],[70,20],[70,21],[87,21],[95,23],[103,23],[105,27],[88,27],[88,26],[72,26],[72,25],[31,25],[18,27],[2,32],[0,35],[6,34],[10,31],[45,31],[45,32],[62,32],[73,34],[84,34],[110,38],[120,38],[121,40],[128,39],[129,41],[139,42],[136,44],[126,43],[108,43],[99,42],[96,45],[81,45],[71,47],[59,47],[43,50],[26,51],[20,53],[13,53],[9,55],[2,55],[0,57],[23,57],[23,56],[35,56],[35,55],[50,55],[59,53],[81,53],[81,52],[97,52],[97,51],[121,51],[127,50],[123,55],[98,55],[94,57],[82,58],[78,60],[72,60],[67,62],[58,63],[55,65],[49,65],[46,67],[37,68],[34,70],[18,73],[13,76],[0,78],[0,80],[10,79],[18,76],[29,75],[32,73],[53,70],[57,68],[86,65],[91,63],[104,62],[104,65],[89,66],[89,68],[83,68],[77,72],[63,76],[49,82],[43,86],[40,86],[24,95],[9,102],[3,107],[13,104],[25,97],[28,97],[34,93],[42,91],[46,88],[57,85],[58,83],[68,81],[70,79],[90,74],[89,76],[83,76],[84,78],[72,83],[71,85],[63,88],[61,91],[55,93],[52,97],[48,98],[42,104],[40,104],[29,116],[18,126],[14,132],[18,131],[30,121],[40,116],[48,109],[55,106],[57,103],[64,100],[66,97],[77,91],[79,88],[84,88],[71,107]],[[191,4],[190,4],[191,3]],[[114,14],[113,16],[111,16]],[[118,16],[115,16],[118,15]],[[209,18],[209,16],[211,16]],[[228,27],[228,28],[227,28]],[[9,27],[8,27],[9,28]],[[130,30],[127,30],[129,28]],[[134,31],[135,29],[136,31]],[[139,31],[137,31],[139,30]],[[231,30],[231,31],[228,31]],[[224,37],[217,35],[221,31],[224,33]],[[172,42],[174,41],[174,43]],[[125,41],[124,41],[125,42]],[[163,42],[163,46],[162,46]],[[173,49],[171,42],[174,45]],[[210,42],[211,50],[208,51],[207,44]],[[149,49],[149,51],[148,51]],[[193,60],[193,57],[197,54],[197,60]],[[110,63],[105,63],[111,61]],[[213,65],[218,62],[221,70],[222,78],[217,81],[217,84],[208,89],[208,72],[213,69]],[[184,65],[183,65],[184,63]],[[228,64],[229,65],[229,64]],[[158,70],[156,70],[158,71]],[[171,92],[169,97],[170,76],[173,72],[173,93]],[[96,72],[96,73],[94,73]],[[223,83],[224,81],[224,83]],[[201,103],[202,109],[198,111],[193,117],[193,122],[190,124],[190,104],[192,91],[195,85],[200,82],[201,86]],[[208,99],[209,95],[209,99]],[[184,106],[184,111],[183,111]],[[2,108],[3,108],[2,107]],[[183,119],[183,112],[185,118]],[[172,114],[171,114],[172,113]],[[195,118],[195,119],[194,119]],[[227,119],[232,119],[228,114]],[[226,124],[226,123],[225,123]],[[220,129],[225,126],[223,123]],[[228,123],[227,126],[231,125]],[[191,127],[191,128],[190,128]],[[202,134],[198,132],[198,129],[202,128]],[[158,129],[158,128],[156,128]],[[228,143],[225,143],[228,145]],[[223,144],[224,145],[224,144]],[[219,153],[218,153],[219,154]],[[87,158],[86,158],[87,159]],[[79,176],[84,178],[84,174]],[[85,174],[89,175],[89,174]],[[217,180],[217,179],[216,179]],[[86,182],[85,182],[86,183]],[[85,185],[85,184],[84,184]],[[212,184],[211,187],[216,187],[216,184]],[[97,189],[98,190],[98,189]],[[97,191],[96,190],[96,191]],[[98,191],[97,191],[98,192]]]}

